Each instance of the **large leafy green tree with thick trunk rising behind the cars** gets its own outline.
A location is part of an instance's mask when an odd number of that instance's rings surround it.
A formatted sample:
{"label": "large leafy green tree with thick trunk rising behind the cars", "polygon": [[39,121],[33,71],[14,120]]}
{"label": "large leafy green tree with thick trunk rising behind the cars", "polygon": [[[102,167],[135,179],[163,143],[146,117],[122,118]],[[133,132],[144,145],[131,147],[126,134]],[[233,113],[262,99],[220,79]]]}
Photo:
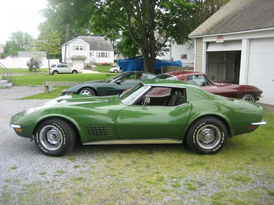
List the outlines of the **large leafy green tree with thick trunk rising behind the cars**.
{"label": "large leafy green tree with thick trunk rising behind the cars", "polygon": [[44,15],[48,21],[66,22],[75,34],[105,36],[114,45],[120,40],[116,48],[123,54],[140,50],[144,70],[153,73],[155,58],[170,37],[180,44],[189,41],[188,34],[227,1],[48,0]]}

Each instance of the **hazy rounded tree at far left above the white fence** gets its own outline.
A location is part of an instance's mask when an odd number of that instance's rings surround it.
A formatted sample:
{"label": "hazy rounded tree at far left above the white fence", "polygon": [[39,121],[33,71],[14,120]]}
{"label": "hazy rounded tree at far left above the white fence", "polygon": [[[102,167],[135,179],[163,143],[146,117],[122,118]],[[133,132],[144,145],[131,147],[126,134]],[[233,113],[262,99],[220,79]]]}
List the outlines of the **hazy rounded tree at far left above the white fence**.
{"label": "hazy rounded tree at far left above the white fence", "polygon": [[27,32],[17,31],[11,33],[4,46],[3,57],[17,56],[18,51],[32,51],[34,41],[33,37]]}

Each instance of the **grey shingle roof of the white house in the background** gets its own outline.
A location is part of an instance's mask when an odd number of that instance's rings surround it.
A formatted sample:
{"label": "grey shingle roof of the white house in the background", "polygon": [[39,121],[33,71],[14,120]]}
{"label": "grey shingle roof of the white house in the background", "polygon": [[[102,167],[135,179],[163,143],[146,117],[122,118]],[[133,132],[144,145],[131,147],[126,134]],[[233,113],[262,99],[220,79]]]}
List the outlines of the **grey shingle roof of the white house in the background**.
{"label": "grey shingle roof of the white house in the background", "polygon": [[77,39],[82,39],[89,43],[90,50],[114,51],[111,41],[105,40],[105,37],[103,36],[78,36],[75,39],[68,41],[68,43],[77,41]]}

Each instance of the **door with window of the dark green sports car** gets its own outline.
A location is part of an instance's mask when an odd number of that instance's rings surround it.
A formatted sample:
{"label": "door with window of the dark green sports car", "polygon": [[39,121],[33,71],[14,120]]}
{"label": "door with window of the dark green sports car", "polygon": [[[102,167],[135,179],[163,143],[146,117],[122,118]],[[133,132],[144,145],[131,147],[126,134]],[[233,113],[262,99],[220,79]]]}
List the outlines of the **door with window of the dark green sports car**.
{"label": "door with window of the dark green sports car", "polygon": [[136,85],[141,80],[141,73],[126,73],[121,78],[110,82],[108,85],[108,95],[119,95],[125,89]]}

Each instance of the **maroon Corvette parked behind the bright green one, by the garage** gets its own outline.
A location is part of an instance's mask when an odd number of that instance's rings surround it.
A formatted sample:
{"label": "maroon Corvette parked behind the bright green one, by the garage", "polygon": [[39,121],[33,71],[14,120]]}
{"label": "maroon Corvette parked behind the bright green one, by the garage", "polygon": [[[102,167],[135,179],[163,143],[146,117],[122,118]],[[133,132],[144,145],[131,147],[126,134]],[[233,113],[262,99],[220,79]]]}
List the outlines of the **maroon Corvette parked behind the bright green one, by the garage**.
{"label": "maroon Corvette parked behind the bright green one, by the garage", "polygon": [[224,97],[241,98],[246,101],[255,102],[261,97],[263,91],[252,85],[238,85],[227,82],[213,82],[206,74],[194,71],[174,71],[158,76],[159,79],[187,81],[202,89]]}

